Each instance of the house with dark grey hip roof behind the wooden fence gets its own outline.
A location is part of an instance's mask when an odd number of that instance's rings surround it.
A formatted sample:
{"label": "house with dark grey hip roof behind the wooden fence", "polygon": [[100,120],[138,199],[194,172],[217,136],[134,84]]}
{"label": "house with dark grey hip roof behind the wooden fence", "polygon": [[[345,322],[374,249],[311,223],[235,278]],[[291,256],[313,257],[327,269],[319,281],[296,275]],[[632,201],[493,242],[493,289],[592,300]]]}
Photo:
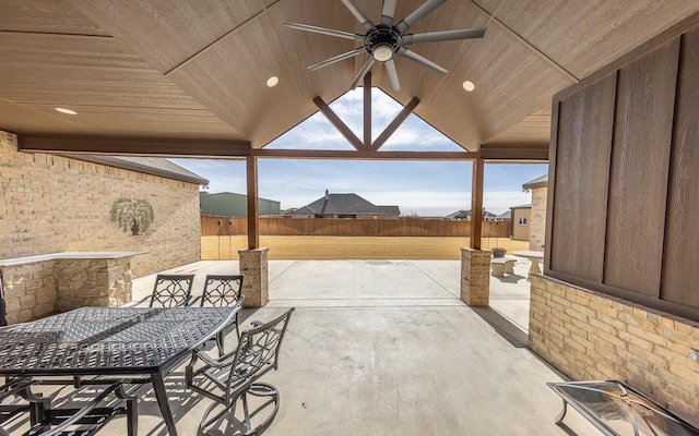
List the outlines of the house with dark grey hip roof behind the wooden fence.
{"label": "house with dark grey hip roof behind the wooden fence", "polygon": [[398,206],[376,206],[357,194],[331,194],[294,210],[294,218],[398,218]]}

